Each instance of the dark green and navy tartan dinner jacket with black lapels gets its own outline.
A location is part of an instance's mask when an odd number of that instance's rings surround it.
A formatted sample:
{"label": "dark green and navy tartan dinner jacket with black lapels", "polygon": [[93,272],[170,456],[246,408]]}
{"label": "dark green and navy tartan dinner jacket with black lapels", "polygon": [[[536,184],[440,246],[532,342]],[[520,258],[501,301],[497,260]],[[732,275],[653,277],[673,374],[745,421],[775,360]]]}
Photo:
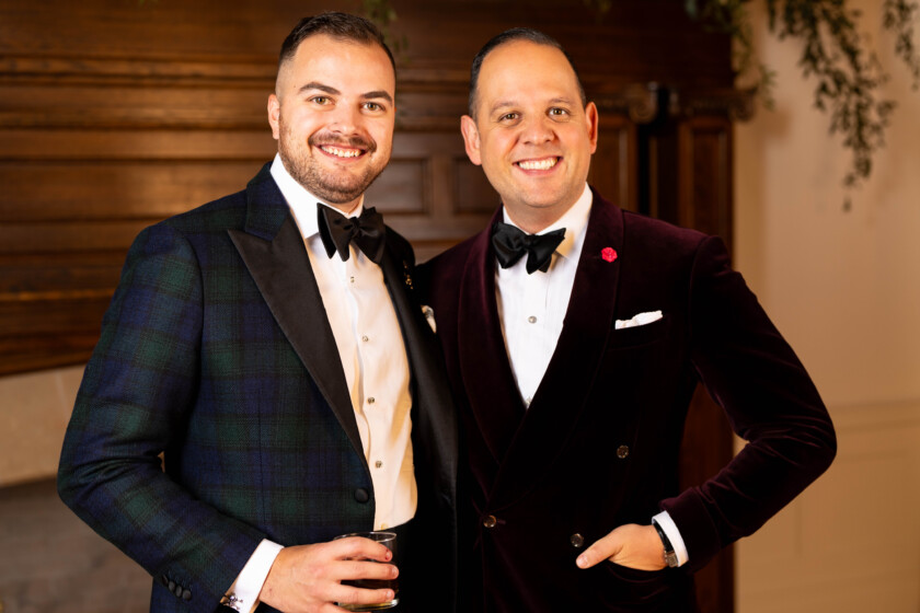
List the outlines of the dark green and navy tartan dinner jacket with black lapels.
{"label": "dark green and navy tartan dinner jacket with black lapels", "polygon": [[[263,539],[298,545],[372,528],[335,339],[268,167],[138,235],[65,438],[60,496],[150,572],[151,611],[215,611]],[[381,267],[412,373],[426,535],[413,570],[437,570],[427,582],[452,601],[456,417],[412,296],[412,247],[387,232]]]}

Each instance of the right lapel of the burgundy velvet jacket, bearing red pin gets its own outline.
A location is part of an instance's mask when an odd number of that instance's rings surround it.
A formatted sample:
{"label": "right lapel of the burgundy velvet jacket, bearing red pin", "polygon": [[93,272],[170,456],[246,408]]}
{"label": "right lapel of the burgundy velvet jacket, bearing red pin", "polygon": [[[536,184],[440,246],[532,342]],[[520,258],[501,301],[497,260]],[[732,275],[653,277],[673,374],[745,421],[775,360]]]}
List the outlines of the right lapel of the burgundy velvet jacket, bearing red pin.
{"label": "right lapel of the burgundy velvet jacket, bearing red pin", "polygon": [[[496,506],[524,496],[568,443],[613,325],[622,244],[622,211],[595,196],[562,334],[496,476]],[[607,247],[617,259],[605,259]]]}

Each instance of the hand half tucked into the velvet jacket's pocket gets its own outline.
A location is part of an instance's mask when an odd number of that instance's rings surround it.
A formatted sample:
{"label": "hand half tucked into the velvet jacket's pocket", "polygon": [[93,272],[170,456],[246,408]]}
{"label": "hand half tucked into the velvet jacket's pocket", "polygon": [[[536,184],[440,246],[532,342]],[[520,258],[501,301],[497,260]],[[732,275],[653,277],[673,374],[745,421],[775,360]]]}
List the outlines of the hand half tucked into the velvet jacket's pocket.
{"label": "hand half tucked into the velvet jacket's pocket", "polygon": [[578,556],[578,568],[590,568],[609,559],[613,564],[636,570],[660,570],[665,563],[665,548],[654,525],[628,523],[594,543]]}

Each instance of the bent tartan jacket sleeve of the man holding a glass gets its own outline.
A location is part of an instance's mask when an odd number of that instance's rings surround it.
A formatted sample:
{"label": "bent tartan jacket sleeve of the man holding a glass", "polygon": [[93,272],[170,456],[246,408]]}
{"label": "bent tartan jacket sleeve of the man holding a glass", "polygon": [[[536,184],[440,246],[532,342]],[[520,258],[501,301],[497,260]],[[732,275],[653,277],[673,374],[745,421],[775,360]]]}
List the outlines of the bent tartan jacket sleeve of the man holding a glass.
{"label": "bent tartan jacket sleeve of the man holding a glass", "polygon": [[184,601],[212,612],[263,534],[162,470],[198,391],[203,280],[168,224],[145,230],[87,366],[58,472],[61,499]]}

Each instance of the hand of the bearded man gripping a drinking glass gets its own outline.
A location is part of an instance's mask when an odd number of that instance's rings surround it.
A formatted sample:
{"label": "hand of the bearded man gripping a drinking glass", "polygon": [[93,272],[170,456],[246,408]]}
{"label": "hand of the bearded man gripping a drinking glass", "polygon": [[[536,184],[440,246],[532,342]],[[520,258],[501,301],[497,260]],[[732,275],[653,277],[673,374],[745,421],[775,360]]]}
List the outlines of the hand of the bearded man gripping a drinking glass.
{"label": "hand of the bearded man gripping a drinking glass", "polygon": [[395,579],[395,566],[378,564],[392,557],[386,546],[359,536],[285,547],[275,558],[258,600],[285,613],[341,613],[334,603],[386,602],[393,598],[393,590],[355,588],[342,581]]}

